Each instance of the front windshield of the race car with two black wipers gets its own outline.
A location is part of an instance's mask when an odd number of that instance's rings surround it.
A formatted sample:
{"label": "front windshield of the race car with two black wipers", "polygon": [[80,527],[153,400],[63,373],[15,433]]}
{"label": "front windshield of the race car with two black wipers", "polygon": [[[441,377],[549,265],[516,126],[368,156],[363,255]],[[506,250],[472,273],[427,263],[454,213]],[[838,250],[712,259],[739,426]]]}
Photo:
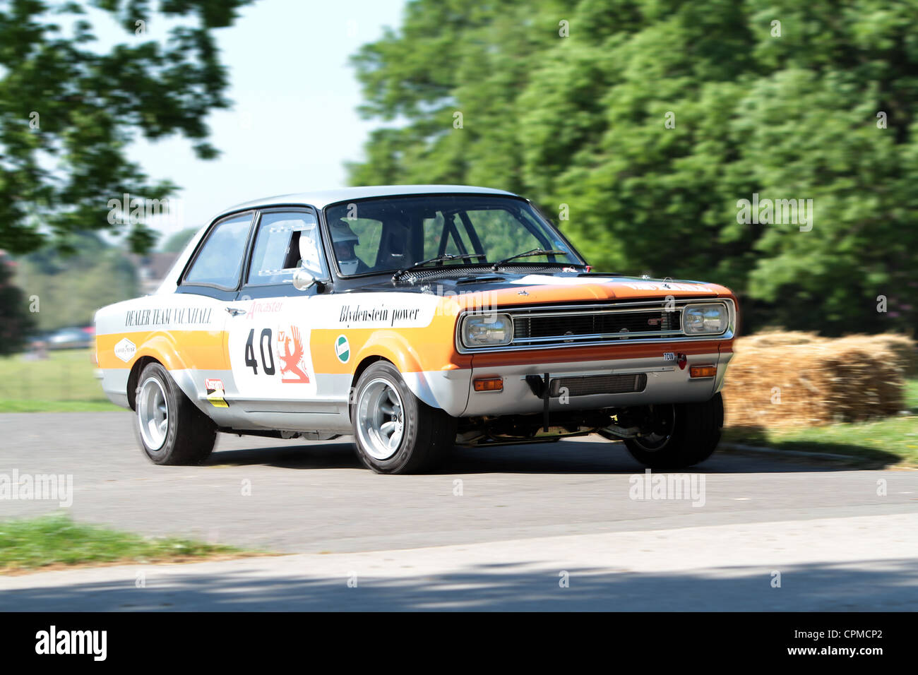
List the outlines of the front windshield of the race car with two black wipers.
{"label": "front windshield of the race car with two black wipers", "polygon": [[[582,264],[552,226],[525,201],[491,195],[364,199],[325,209],[342,276],[395,272],[444,255],[443,266]],[[472,257],[474,256],[474,257]]]}

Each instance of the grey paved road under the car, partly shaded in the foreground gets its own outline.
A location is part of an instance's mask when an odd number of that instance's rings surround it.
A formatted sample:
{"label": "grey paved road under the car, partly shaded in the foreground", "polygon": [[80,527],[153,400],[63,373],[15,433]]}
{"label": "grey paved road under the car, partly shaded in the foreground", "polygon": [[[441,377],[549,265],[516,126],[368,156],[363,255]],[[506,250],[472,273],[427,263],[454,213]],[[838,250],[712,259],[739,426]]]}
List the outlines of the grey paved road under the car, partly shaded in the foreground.
{"label": "grey paved road under the car, partly shaded in the foreground", "polygon": [[[0,474],[72,474],[76,520],[307,555],[146,566],[142,600],[135,567],[0,578],[0,609],[918,606],[914,471],[717,454],[694,472],[703,500],[642,500],[642,467],[601,439],[457,449],[438,474],[389,477],[348,443],[227,435],[205,466],[156,467],[131,422],[0,415]],[[4,518],[59,509],[0,501]],[[341,595],[352,572],[366,592]]]}

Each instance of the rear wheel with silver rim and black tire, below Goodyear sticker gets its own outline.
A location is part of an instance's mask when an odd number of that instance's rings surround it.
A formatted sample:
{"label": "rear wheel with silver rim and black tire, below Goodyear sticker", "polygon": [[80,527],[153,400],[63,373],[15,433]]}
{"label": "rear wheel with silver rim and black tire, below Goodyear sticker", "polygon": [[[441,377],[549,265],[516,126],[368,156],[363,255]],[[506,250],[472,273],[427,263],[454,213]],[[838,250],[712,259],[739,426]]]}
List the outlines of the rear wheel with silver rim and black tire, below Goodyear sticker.
{"label": "rear wheel with silver rim and black tire, below Goodyear sticker", "polygon": [[134,402],[134,431],[153,464],[200,464],[214,449],[217,425],[199,411],[160,364],[144,367]]}

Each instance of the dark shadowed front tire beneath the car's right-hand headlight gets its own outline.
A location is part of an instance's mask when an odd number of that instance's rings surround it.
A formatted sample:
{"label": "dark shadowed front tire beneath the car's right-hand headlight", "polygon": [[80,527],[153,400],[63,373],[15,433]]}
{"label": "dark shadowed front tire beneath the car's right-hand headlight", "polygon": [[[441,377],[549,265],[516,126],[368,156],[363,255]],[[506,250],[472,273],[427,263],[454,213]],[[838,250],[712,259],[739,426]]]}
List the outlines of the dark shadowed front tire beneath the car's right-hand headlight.
{"label": "dark shadowed front tire beneath the car's right-hand headlight", "polygon": [[723,428],[720,392],[703,403],[674,404],[671,412],[663,406],[656,408],[661,409],[661,433],[625,441],[631,456],[645,467],[691,467],[703,462],[717,449]]}

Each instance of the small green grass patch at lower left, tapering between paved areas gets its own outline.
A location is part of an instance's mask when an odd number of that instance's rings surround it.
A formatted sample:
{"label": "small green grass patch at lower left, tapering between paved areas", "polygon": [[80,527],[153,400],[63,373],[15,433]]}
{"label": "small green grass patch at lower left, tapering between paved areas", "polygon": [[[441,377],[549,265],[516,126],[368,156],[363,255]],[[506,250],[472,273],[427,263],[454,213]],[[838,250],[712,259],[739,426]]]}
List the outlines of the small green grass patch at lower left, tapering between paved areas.
{"label": "small green grass patch at lower left, tapering between paved areas", "polygon": [[193,539],[145,537],[54,514],[0,522],[0,574],[113,563],[189,562],[258,555]]}

